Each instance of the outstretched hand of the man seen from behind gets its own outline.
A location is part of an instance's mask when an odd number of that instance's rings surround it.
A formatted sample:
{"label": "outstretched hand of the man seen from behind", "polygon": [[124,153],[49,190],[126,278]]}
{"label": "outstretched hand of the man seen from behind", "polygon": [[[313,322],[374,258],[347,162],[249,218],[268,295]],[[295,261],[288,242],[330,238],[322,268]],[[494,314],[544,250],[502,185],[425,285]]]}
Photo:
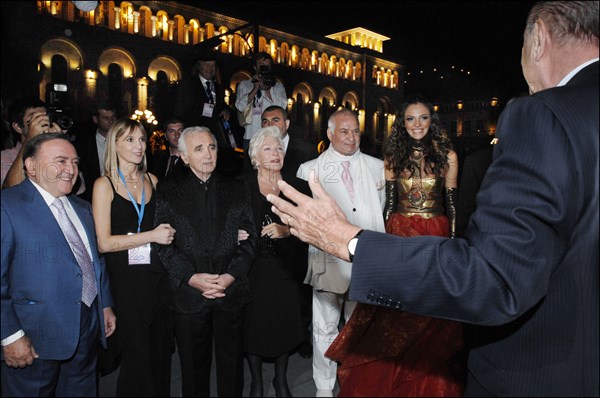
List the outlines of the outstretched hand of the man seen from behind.
{"label": "outstretched hand of the man seen from behind", "polygon": [[269,194],[273,212],[290,227],[292,235],[329,254],[348,261],[348,242],[360,227],[350,224],[346,215],[329,195],[312,170],[308,185],[313,197],[306,196],[285,181],[279,181],[279,189],[297,205]]}

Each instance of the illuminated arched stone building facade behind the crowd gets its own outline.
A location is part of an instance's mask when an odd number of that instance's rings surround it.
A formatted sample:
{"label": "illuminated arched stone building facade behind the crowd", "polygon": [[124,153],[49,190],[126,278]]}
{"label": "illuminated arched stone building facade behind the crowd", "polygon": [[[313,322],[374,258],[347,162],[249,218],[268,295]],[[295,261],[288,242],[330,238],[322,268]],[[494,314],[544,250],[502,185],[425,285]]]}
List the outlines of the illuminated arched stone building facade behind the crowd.
{"label": "illuminated arched stone building facade behind the crowd", "polygon": [[3,9],[6,44],[22,68],[8,73],[16,64],[3,61],[2,97],[37,92],[47,101],[49,87],[67,84],[76,120],[89,120],[91,104],[104,98],[124,114],[151,110],[160,125],[178,82],[207,47],[202,43],[215,36],[223,39],[215,45],[226,102],[233,106],[237,84],[253,74],[257,46],[273,57],[292,125],[311,142],[344,106],[357,111],[361,130],[380,145],[404,95],[403,65],[382,53],[388,38],[363,28],[306,37],[173,1],[99,1],[89,12],[71,1],[5,2]]}

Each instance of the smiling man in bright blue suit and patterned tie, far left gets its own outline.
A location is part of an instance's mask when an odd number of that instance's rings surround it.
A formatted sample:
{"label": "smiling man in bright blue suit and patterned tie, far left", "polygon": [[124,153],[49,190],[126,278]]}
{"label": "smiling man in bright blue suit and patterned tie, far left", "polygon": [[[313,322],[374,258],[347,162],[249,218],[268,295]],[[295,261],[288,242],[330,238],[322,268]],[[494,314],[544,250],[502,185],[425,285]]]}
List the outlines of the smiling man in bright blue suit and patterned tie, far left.
{"label": "smiling man in bright blue suit and patterned tie, far left", "polygon": [[[2,396],[97,396],[98,338],[116,327],[89,203],[64,134],[23,152],[27,179],[2,190]],[[68,239],[67,239],[68,238]]]}

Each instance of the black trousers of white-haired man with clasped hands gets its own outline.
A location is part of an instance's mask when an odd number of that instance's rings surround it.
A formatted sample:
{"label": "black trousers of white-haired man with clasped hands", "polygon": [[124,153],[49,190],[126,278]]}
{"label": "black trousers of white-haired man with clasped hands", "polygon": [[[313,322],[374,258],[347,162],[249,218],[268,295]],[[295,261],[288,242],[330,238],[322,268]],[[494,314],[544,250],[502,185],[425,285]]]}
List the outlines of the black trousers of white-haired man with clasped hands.
{"label": "black trousers of white-haired man with clasped hands", "polygon": [[210,396],[214,339],[217,393],[220,397],[241,397],[244,388],[243,307],[233,311],[211,307],[195,314],[175,314],[182,395]]}

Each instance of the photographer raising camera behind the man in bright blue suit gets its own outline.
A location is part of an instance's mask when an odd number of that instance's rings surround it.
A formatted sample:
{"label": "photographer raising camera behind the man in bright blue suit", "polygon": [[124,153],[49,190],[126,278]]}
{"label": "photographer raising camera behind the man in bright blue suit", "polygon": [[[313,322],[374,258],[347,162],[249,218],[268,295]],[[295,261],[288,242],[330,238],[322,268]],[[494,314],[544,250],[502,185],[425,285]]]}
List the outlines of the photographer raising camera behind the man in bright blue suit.
{"label": "photographer raising camera behind the man in bright blue suit", "polygon": [[40,134],[62,131],[56,122],[51,121],[44,101],[37,97],[17,99],[9,107],[8,114],[10,128],[18,134],[19,142],[14,148],[3,150],[0,155],[2,188],[12,187],[25,179],[22,152],[29,140]]}

